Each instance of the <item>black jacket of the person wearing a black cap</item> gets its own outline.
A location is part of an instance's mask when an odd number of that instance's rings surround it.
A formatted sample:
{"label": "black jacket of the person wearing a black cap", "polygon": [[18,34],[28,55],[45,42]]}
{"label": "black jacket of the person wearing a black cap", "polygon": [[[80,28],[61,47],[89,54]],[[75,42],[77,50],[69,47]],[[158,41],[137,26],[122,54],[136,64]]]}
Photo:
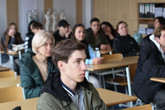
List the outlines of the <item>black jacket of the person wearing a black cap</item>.
{"label": "black jacket of the person wearing a black cap", "polygon": [[57,45],[58,42],[60,42],[61,40],[65,40],[68,38],[71,38],[71,33],[69,34],[69,37],[66,38],[65,36],[61,36],[59,33],[59,30],[57,30],[54,34],[53,34],[54,38],[55,38],[55,45]]}

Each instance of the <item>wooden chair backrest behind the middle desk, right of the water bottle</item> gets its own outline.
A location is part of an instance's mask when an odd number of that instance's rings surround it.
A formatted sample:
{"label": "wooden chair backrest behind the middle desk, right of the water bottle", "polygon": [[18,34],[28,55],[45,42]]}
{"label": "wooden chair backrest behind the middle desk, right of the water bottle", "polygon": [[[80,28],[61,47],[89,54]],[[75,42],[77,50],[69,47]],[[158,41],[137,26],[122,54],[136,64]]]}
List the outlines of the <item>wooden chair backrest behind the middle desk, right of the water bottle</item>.
{"label": "wooden chair backrest behind the middle desk, right of the water bottle", "polygon": [[102,57],[104,57],[103,63],[123,59],[123,55],[121,53],[115,53],[115,54],[111,54],[111,55],[103,55]]}

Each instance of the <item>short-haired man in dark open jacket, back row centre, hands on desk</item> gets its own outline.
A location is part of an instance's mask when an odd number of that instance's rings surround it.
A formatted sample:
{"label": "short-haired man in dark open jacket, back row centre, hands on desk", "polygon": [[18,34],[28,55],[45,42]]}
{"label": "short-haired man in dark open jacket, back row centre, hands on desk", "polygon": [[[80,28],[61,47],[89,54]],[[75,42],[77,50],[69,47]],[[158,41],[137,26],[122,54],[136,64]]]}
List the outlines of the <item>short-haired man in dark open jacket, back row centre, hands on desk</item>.
{"label": "short-haired man in dark open jacket, back row centre, hands on desk", "polygon": [[85,31],[85,40],[91,45],[93,49],[100,48],[100,50],[111,49],[110,43],[105,33],[100,29],[100,20],[92,18],[90,21],[91,27]]}

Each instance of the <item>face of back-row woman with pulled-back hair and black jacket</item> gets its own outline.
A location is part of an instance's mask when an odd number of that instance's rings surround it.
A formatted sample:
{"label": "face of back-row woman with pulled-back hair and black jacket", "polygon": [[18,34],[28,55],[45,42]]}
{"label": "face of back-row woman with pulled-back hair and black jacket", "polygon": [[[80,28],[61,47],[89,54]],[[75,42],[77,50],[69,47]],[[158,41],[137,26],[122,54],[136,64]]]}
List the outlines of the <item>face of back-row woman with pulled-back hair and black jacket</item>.
{"label": "face of back-row woman with pulled-back hair and black jacket", "polygon": [[128,26],[127,26],[125,23],[119,24],[117,32],[118,32],[121,36],[127,35],[127,34],[128,34]]}

